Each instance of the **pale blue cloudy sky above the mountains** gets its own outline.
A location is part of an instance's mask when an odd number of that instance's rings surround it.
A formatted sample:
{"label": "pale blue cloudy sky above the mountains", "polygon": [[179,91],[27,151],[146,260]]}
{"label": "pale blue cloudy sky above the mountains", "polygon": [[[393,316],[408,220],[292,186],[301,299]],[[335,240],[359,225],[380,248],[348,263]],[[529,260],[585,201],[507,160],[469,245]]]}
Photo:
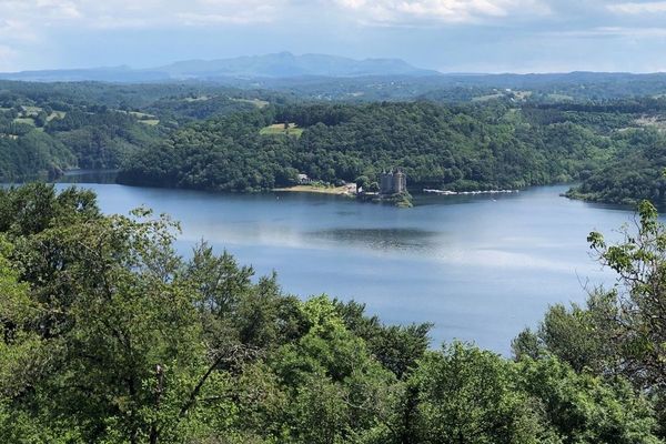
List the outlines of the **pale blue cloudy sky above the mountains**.
{"label": "pale blue cloudy sky above the mountains", "polygon": [[291,51],[442,72],[666,71],[666,1],[0,0],[0,71]]}

